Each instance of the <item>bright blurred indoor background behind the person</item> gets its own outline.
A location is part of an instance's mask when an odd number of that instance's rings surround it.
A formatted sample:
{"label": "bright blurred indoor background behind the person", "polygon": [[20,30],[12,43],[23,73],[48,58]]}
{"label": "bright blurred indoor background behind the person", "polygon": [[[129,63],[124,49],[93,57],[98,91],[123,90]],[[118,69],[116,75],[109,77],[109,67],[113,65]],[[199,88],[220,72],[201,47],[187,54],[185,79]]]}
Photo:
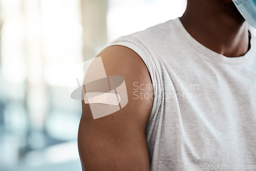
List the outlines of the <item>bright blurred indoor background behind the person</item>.
{"label": "bright blurred indoor background behind the person", "polygon": [[181,16],[186,0],[0,0],[0,170],[81,170],[70,64]]}

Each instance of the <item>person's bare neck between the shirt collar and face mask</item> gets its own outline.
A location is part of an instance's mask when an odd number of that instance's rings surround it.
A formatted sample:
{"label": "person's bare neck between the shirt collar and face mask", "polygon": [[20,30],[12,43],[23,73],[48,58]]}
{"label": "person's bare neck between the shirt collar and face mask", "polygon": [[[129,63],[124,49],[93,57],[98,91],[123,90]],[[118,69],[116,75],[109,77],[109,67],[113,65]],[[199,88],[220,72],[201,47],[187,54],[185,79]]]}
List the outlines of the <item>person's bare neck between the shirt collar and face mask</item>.
{"label": "person's bare neck between the shirt collar and face mask", "polygon": [[227,57],[244,55],[249,49],[248,28],[244,19],[233,16],[228,9],[223,11],[224,7],[211,2],[188,1],[187,9],[180,18],[184,28],[212,51]]}

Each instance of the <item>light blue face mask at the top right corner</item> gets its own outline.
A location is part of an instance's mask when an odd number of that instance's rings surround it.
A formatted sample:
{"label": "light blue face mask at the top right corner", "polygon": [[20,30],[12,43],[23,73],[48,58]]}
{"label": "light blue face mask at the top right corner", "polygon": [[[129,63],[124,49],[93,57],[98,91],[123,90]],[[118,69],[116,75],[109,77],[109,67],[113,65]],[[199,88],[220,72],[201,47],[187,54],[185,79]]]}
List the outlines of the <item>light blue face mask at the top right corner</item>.
{"label": "light blue face mask at the top right corner", "polygon": [[232,0],[245,20],[256,29],[256,0]]}

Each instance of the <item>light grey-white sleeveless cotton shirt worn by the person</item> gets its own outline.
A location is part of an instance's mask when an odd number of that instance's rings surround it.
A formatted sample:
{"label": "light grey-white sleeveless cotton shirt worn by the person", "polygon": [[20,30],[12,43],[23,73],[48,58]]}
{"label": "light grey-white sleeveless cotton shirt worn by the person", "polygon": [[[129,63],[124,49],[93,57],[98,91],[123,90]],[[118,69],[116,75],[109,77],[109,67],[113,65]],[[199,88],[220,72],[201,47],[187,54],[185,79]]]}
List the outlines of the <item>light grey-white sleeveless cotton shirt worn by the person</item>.
{"label": "light grey-white sleeveless cotton shirt worn by the person", "polygon": [[244,56],[225,57],[176,18],[106,46],[132,49],[151,75],[151,170],[256,170],[255,37],[250,44]]}

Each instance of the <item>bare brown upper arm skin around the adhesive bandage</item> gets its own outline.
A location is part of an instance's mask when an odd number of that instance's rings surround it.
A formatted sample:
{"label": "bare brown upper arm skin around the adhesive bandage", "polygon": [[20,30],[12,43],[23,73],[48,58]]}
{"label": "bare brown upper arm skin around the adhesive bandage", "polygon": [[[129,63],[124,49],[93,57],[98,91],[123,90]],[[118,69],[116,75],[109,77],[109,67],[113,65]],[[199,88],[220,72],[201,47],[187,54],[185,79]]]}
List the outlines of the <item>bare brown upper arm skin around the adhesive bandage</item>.
{"label": "bare brown upper arm skin around the adhesive bandage", "polygon": [[[129,48],[112,46],[97,56],[101,56],[106,75],[124,78],[128,102],[113,114],[93,119],[90,105],[82,100],[78,131],[82,168],[89,171],[150,170],[145,134],[153,105],[150,74],[138,54]],[[137,90],[139,85],[142,87]],[[148,97],[145,94],[150,97],[145,98]],[[138,98],[141,95],[142,98]]]}

